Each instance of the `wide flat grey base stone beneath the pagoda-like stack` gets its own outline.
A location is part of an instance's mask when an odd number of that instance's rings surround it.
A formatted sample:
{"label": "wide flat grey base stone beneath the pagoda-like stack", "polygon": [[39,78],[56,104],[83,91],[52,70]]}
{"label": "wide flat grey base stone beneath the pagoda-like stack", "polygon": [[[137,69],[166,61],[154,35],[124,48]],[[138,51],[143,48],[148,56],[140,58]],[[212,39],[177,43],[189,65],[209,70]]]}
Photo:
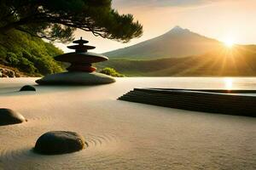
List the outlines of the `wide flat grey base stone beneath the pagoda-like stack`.
{"label": "wide flat grey base stone beneath the pagoda-like stack", "polygon": [[112,83],[115,79],[97,72],[68,71],[48,75],[36,82],[40,85],[97,85]]}

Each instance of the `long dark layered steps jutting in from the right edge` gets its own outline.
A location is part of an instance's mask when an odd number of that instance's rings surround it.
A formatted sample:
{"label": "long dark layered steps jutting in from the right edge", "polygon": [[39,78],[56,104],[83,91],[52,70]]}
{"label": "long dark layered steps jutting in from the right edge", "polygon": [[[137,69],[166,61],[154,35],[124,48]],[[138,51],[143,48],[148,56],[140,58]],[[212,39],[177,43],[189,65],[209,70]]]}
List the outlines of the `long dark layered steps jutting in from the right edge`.
{"label": "long dark layered steps jutting in from the right edge", "polygon": [[189,111],[204,111],[236,116],[256,117],[256,96],[253,91],[236,91],[230,94],[224,90],[196,91],[184,89],[135,88],[119,97],[120,100],[158,105]]}

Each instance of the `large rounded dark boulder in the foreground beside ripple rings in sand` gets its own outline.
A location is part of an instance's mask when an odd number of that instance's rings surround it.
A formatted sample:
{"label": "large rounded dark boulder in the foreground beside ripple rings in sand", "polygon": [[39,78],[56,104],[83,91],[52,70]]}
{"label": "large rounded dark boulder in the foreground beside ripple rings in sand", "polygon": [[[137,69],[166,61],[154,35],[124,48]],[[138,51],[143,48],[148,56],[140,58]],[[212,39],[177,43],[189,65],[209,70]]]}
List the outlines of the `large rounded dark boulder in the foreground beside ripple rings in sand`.
{"label": "large rounded dark boulder in the foreground beside ripple rings in sand", "polygon": [[51,131],[39,137],[34,150],[40,154],[56,155],[83,150],[87,145],[78,133]]}

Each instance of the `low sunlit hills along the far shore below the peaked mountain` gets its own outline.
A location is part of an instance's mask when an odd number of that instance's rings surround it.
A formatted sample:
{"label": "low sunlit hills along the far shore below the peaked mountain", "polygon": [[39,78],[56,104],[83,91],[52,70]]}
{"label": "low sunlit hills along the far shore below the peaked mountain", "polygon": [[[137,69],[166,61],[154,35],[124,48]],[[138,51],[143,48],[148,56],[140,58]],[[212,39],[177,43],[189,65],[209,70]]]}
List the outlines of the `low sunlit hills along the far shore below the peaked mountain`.
{"label": "low sunlit hills along the far shore below the peaked mountain", "polygon": [[113,67],[128,77],[255,77],[256,46],[219,47],[207,54],[184,58],[110,59],[97,66]]}

